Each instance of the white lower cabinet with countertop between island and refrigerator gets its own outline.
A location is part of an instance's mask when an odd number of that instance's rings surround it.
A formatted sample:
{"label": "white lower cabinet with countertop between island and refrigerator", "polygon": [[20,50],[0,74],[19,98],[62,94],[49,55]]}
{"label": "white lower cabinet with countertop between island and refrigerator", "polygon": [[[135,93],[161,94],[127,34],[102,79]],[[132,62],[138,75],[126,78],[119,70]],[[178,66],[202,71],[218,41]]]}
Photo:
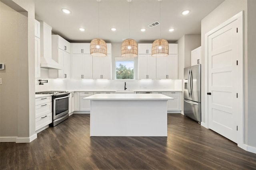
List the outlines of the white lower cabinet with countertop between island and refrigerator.
{"label": "white lower cabinet with countertop between island and refrigerator", "polygon": [[181,92],[153,92],[160,93],[171,98],[173,100],[168,100],[167,111],[170,113],[180,113],[181,112]]}

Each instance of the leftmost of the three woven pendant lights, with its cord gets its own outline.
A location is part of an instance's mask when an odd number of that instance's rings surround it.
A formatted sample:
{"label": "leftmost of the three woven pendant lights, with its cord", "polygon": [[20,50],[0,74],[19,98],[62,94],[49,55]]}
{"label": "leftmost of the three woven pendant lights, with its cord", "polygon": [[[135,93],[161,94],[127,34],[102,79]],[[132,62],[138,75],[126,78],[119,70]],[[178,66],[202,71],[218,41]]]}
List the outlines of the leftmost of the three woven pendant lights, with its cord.
{"label": "leftmost of the three woven pendant lights, with its cord", "polygon": [[[100,5],[98,1],[98,36],[99,36],[99,30],[100,30]],[[90,43],[90,55],[94,57],[106,57],[107,56],[107,44],[103,39],[93,39]]]}

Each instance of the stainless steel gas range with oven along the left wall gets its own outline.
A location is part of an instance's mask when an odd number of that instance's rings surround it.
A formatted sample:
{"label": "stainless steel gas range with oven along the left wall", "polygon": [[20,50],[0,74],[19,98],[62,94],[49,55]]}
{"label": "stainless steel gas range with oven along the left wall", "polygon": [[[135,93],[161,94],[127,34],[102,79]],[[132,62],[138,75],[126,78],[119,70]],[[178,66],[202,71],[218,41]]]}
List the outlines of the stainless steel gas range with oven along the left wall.
{"label": "stainless steel gas range with oven along the left wall", "polygon": [[68,91],[46,91],[36,92],[36,94],[52,94],[52,123],[50,126],[56,126],[62,121],[68,119]]}

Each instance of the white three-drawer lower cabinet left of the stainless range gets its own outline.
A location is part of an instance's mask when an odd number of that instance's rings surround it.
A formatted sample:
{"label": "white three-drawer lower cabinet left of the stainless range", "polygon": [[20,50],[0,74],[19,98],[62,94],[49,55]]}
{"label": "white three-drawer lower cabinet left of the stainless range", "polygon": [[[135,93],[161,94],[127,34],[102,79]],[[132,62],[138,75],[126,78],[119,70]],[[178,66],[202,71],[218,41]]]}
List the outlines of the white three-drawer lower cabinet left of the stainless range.
{"label": "white three-drawer lower cabinet left of the stainless range", "polygon": [[52,96],[36,98],[35,131],[52,123]]}

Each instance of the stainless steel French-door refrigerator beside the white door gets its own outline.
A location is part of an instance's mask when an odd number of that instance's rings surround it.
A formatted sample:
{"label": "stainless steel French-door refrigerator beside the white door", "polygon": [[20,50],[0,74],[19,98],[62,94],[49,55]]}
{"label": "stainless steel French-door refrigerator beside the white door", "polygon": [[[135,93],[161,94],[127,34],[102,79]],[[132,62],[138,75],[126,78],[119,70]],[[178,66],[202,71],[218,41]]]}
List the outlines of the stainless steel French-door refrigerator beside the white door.
{"label": "stainless steel French-door refrigerator beside the white door", "polygon": [[201,123],[201,64],[184,68],[184,115]]}

